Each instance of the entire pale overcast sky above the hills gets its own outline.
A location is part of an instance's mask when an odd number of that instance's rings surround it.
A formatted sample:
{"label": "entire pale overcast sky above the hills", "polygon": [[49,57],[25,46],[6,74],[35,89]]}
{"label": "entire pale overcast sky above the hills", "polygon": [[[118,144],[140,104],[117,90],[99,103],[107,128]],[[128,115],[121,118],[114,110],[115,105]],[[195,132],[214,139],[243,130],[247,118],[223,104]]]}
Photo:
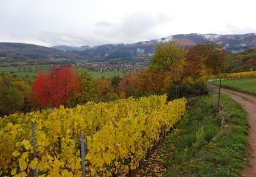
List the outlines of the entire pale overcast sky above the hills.
{"label": "entire pale overcast sky above the hills", "polygon": [[255,7],[255,0],[0,0],[0,42],[97,46],[256,33]]}

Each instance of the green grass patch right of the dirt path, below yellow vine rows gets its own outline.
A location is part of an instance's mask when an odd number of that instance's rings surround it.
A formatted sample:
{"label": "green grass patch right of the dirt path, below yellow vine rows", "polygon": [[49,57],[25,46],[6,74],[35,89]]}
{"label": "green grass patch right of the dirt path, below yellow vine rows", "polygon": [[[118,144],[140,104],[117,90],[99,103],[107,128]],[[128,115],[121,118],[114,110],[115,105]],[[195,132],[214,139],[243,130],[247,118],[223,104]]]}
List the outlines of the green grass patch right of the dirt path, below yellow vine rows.
{"label": "green grass patch right of the dirt path, below yellow vine rows", "polygon": [[[214,82],[214,84],[218,83],[218,81]],[[256,95],[256,78],[222,80],[221,85],[225,88]]]}

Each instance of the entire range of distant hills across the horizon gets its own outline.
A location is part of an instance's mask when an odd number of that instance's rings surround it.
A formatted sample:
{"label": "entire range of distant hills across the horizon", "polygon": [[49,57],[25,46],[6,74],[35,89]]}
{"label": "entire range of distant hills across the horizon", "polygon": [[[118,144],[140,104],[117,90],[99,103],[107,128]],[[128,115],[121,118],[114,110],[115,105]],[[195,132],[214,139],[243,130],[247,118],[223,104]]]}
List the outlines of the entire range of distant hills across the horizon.
{"label": "entire range of distant hills across the horizon", "polygon": [[144,60],[150,59],[154,54],[154,46],[159,42],[174,42],[184,48],[190,48],[203,42],[215,42],[220,44],[230,53],[243,52],[256,48],[255,33],[244,35],[216,35],[216,34],[180,34],[162,37],[150,41],[137,42],[134,44],[106,44],[100,46],[55,46],[48,48],[33,44],[0,42],[0,57],[12,59],[44,59],[61,57],[66,59],[87,59],[89,61],[110,60]]}

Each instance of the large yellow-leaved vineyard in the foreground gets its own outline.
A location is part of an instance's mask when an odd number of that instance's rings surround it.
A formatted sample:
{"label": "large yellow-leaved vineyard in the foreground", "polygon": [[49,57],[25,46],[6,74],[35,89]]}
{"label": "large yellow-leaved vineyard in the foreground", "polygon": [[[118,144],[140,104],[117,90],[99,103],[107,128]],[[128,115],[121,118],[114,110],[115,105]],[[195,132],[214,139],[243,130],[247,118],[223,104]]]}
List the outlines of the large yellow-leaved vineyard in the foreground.
{"label": "large yellow-leaved vineyard in the foreground", "polygon": [[185,112],[162,95],[5,116],[0,176],[82,176],[84,153],[87,176],[129,174]]}

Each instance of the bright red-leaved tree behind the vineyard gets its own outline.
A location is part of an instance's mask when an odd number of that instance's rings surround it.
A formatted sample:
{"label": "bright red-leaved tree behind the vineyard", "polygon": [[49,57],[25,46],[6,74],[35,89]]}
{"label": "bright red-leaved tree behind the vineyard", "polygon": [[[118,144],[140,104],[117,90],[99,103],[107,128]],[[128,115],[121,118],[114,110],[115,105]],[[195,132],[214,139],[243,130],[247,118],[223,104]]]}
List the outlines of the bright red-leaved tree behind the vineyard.
{"label": "bright red-leaved tree behind the vineyard", "polygon": [[79,90],[79,78],[72,67],[52,67],[48,74],[38,73],[33,93],[41,108],[67,106]]}

